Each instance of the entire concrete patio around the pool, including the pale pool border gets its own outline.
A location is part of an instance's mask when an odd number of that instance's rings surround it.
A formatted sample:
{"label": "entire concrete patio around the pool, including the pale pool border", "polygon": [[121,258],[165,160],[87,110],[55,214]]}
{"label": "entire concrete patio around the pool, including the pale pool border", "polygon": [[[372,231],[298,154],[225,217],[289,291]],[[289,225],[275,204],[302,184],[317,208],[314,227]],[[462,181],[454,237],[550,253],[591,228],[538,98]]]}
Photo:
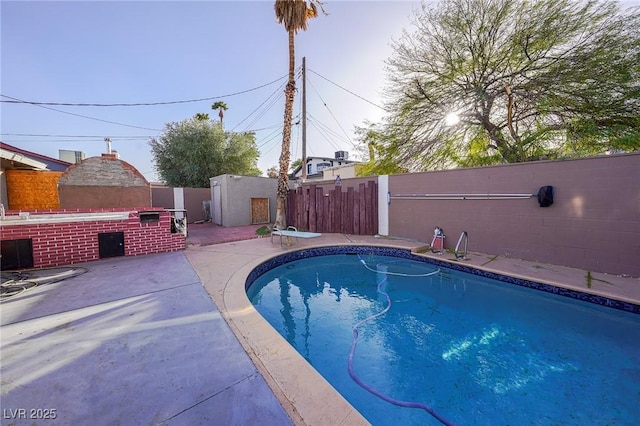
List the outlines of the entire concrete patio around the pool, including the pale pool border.
{"label": "entire concrete patio around the pool, including the pale pool border", "polygon": [[[83,275],[4,300],[2,424],[366,424],[253,309],[244,281],[264,260],[304,247],[424,243],[326,234],[282,248],[247,235],[83,264]],[[593,273],[589,287],[587,271],[469,257],[483,269],[640,304],[638,278]],[[46,410],[54,422],[30,416]]]}

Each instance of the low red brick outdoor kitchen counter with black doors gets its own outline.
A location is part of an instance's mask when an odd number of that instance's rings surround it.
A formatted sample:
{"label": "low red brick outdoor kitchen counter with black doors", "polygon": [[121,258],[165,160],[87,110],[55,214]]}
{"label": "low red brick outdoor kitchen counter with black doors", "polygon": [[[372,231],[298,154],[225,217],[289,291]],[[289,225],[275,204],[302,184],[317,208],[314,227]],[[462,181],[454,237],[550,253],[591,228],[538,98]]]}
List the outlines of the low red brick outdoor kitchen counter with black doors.
{"label": "low red brick outdoor kitchen counter with black doors", "polygon": [[[55,210],[38,213],[112,211],[127,209]],[[171,233],[171,218],[166,211],[160,212],[160,221],[157,223],[140,223],[138,211],[132,211],[125,220],[2,226],[2,240],[31,238],[34,267],[41,268],[98,260],[98,234],[104,232],[124,233],[125,256],[183,250],[186,245],[184,235]]]}

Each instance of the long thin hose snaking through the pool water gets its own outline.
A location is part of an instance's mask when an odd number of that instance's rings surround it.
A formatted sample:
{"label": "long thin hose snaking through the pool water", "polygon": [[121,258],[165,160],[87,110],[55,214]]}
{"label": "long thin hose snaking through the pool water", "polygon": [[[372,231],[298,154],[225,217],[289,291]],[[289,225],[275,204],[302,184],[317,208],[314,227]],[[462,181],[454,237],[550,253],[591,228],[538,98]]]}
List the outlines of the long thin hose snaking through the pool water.
{"label": "long thin hose snaking through the pool water", "polygon": [[[349,352],[349,358],[348,358],[348,371],[349,371],[349,376],[351,376],[351,378],[353,379],[354,382],[356,382],[360,387],[362,387],[364,390],[368,391],[369,393],[372,393],[373,395],[377,396],[378,398],[387,401],[393,405],[397,405],[399,407],[406,407],[406,408],[419,408],[422,409],[424,411],[426,411],[427,413],[431,414],[436,420],[438,420],[440,423],[447,425],[447,426],[453,426],[453,423],[450,422],[449,420],[447,420],[446,418],[444,418],[441,414],[439,414],[437,411],[435,411],[432,407],[430,407],[427,404],[421,403],[421,402],[413,402],[413,401],[402,401],[399,399],[395,399],[392,398],[388,395],[383,394],[382,392],[378,391],[377,389],[369,386],[368,384],[366,384],[365,382],[362,381],[362,379],[360,379],[358,377],[358,375],[355,373],[355,371],[353,370],[353,356],[355,355],[356,352],[356,346],[358,345],[358,327],[360,327],[361,325],[373,321],[381,316],[383,316],[384,314],[386,314],[390,309],[391,309],[391,297],[389,297],[389,294],[386,293],[384,290],[382,290],[382,285],[387,282],[387,280],[389,279],[390,275],[395,275],[395,276],[401,276],[401,277],[427,277],[430,275],[435,275],[437,273],[440,272],[440,268],[438,268],[436,271],[433,272],[429,272],[426,274],[418,274],[418,275],[411,275],[411,274],[401,274],[401,273],[394,273],[394,272],[388,272],[388,271],[383,271],[380,269],[373,269],[371,267],[369,267],[367,265],[367,262],[364,261],[364,259],[362,259],[362,257],[360,257],[360,255],[358,254],[358,259],[360,259],[360,263],[362,263],[362,265],[369,271],[375,272],[376,274],[383,274],[384,278],[378,282],[378,286],[376,288],[376,290],[378,291],[378,293],[380,293],[381,295],[383,295],[387,301],[387,305],[385,306],[385,308],[376,313],[373,314],[365,319],[363,319],[362,321],[358,322],[356,325],[353,326],[353,341],[351,343],[351,351]],[[376,265],[376,266],[381,266],[380,264]]]}

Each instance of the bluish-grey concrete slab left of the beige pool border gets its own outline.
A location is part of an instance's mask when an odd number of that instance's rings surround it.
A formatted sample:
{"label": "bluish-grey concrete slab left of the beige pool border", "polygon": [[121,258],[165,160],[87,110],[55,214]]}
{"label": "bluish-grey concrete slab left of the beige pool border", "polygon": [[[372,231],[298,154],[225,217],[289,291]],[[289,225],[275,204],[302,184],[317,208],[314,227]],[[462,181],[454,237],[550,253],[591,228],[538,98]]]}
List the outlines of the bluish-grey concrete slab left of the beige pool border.
{"label": "bluish-grey concrete slab left of the beige pool border", "polygon": [[291,424],[185,252],[81,266],[0,305],[2,425]]}

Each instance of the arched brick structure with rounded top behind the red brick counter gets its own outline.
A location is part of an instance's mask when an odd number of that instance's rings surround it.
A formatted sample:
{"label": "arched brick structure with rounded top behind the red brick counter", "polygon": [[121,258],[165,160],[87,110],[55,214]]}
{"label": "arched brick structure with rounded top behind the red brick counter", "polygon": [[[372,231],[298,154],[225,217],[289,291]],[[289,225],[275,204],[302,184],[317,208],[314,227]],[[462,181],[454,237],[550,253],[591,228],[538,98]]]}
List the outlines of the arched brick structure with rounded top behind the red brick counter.
{"label": "arched brick structure with rounded top behind the red brick counter", "polygon": [[58,180],[61,209],[151,207],[151,185],[115,154],[90,157]]}

